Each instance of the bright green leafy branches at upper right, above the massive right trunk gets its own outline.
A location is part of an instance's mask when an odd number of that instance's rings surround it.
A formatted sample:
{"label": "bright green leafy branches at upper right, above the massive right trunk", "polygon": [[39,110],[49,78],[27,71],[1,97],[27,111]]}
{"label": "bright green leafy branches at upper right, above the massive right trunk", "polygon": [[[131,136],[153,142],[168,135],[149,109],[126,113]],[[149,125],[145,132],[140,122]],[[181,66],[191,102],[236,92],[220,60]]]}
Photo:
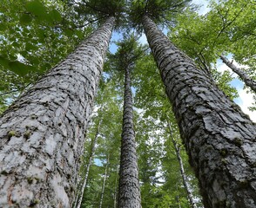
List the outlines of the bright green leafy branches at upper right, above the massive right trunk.
{"label": "bright green leafy branches at upper right, above the massive right trunk", "polygon": [[[246,1],[215,1],[204,16],[192,10],[185,10],[177,16],[177,24],[169,33],[172,42],[198,64],[199,68],[207,68],[220,81],[219,88],[232,98],[237,95],[227,84],[230,81],[227,72],[219,78],[215,66],[219,55],[232,54],[239,64],[246,65],[246,72],[255,75],[255,3]],[[220,75],[220,74],[219,74]],[[228,79],[227,79],[228,78]]]}

